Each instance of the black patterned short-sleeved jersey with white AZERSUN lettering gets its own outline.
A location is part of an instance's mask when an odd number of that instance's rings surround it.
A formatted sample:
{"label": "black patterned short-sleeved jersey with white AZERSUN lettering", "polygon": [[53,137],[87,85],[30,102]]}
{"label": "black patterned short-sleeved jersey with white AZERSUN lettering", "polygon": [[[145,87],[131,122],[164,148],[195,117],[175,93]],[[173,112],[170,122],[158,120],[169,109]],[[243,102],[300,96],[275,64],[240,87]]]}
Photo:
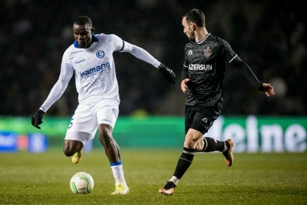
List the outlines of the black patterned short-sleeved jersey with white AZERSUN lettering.
{"label": "black patterned short-sleeved jersey with white AZERSUN lettering", "polygon": [[190,82],[186,105],[222,105],[225,66],[236,56],[226,40],[210,33],[201,42],[187,43],[183,69]]}

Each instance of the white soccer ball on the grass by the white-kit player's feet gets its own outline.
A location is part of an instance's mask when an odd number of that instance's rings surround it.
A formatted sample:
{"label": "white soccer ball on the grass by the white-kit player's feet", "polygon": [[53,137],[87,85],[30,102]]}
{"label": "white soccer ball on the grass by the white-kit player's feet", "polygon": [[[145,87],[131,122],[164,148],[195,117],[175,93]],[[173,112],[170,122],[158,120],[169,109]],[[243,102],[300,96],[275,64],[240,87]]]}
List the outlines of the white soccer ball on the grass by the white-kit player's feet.
{"label": "white soccer ball on the grass by the white-kit player's feet", "polygon": [[90,194],[94,189],[94,180],[90,174],[78,172],[71,178],[70,187],[74,194]]}

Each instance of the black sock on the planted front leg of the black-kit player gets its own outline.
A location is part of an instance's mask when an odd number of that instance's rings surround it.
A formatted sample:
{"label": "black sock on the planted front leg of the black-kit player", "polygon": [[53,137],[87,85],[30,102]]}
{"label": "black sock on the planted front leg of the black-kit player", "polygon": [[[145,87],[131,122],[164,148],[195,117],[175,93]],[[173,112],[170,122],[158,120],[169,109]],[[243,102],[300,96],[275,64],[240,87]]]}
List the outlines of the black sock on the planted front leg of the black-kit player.
{"label": "black sock on the planted front leg of the black-kit player", "polygon": [[174,176],[180,179],[184,175],[193,161],[194,154],[195,149],[183,148],[183,152],[179,157]]}

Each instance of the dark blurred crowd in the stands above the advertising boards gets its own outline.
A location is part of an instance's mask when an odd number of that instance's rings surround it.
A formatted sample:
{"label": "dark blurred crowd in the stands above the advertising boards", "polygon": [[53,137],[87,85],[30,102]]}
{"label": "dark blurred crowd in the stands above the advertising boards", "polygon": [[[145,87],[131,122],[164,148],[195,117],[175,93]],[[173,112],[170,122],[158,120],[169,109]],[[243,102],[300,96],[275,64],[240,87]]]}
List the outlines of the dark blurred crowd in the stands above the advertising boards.
{"label": "dark blurred crowd in the stands above the advertising boards", "polygon": [[[204,11],[207,30],[226,39],[276,93],[266,97],[227,66],[222,114],[307,114],[302,1],[4,0],[0,5],[0,115],[31,115],[47,98],[62,54],[73,43],[72,23],[79,15],[92,18],[96,33],[114,33],[144,48],[177,74],[177,84],[168,84],[151,65],[129,53],[115,53],[121,115],[183,115],[180,82],[188,39],[181,16],[192,8]],[[77,105],[73,77],[48,114],[72,115]]]}

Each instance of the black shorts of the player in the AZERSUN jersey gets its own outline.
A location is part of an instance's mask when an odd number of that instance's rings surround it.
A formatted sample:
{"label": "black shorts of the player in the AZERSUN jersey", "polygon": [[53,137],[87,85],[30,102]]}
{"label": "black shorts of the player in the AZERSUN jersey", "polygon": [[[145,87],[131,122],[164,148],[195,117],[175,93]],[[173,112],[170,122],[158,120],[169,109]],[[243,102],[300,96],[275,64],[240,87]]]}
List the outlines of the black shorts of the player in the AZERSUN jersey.
{"label": "black shorts of the player in the AZERSUN jersey", "polygon": [[185,107],[185,134],[190,128],[205,134],[221,114],[222,106],[189,106]]}

